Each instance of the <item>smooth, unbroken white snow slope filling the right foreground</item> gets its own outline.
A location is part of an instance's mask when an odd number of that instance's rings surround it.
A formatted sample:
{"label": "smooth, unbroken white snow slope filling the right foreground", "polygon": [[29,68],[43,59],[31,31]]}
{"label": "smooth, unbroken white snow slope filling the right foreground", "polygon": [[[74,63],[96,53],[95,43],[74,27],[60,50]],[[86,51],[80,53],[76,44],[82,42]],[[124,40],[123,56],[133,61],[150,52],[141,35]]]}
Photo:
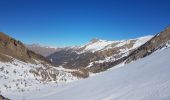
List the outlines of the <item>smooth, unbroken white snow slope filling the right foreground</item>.
{"label": "smooth, unbroken white snow slope filling the right foreground", "polygon": [[170,100],[169,59],[170,49],[159,50],[85,80],[5,96],[16,100]]}

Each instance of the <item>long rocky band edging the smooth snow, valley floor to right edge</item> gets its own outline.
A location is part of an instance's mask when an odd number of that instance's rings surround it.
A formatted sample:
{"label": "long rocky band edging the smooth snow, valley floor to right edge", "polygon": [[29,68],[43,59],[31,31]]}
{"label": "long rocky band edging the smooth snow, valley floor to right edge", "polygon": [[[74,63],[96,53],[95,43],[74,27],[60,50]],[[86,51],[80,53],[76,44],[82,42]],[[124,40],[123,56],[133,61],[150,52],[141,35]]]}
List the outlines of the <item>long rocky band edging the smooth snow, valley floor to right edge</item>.
{"label": "long rocky band edging the smooth snow, valley floor to right edge", "polygon": [[90,72],[101,72],[105,71],[113,66],[116,66],[122,62],[130,63],[135,60],[144,58],[158,49],[167,48],[170,46],[170,27],[167,27],[165,30],[161,31],[159,34],[155,35],[153,38],[148,40],[143,45],[132,50],[129,54],[116,59],[115,61],[108,61],[101,63],[93,63],[93,66],[86,68]]}

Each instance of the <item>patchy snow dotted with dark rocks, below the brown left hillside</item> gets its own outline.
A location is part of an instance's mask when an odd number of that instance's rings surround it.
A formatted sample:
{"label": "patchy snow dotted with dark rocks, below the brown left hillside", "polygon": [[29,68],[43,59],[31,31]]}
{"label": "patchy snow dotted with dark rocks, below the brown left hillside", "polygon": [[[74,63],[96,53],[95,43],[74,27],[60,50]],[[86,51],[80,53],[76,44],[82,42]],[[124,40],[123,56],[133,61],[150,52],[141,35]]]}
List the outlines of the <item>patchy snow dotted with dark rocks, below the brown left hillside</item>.
{"label": "patchy snow dotted with dark rocks, below the brown left hillside", "polygon": [[[13,59],[11,62],[0,61],[0,94],[20,94],[26,91],[39,91],[46,84],[64,84],[77,80],[76,77],[72,76],[65,69],[53,66],[46,69],[46,66],[39,61],[36,61],[36,64],[31,64],[14,58],[11,59]],[[36,71],[38,68],[41,68],[42,71],[38,72],[40,75],[35,75],[31,72]],[[46,73],[46,78],[44,73]],[[56,80],[53,80],[49,74],[56,75]],[[48,81],[47,77],[51,81]]]}

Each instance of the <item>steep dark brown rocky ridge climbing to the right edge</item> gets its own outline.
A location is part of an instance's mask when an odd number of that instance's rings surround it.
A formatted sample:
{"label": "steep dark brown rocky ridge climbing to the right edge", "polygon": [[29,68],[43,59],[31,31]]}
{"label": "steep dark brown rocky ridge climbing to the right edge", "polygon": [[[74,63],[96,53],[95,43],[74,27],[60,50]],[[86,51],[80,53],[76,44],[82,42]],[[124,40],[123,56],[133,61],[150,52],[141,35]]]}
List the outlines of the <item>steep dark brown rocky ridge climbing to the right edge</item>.
{"label": "steep dark brown rocky ridge climbing to the right edge", "polygon": [[157,49],[166,48],[170,46],[170,27],[154,36],[150,41],[140,46],[137,50],[127,56],[126,63],[143,58]]}

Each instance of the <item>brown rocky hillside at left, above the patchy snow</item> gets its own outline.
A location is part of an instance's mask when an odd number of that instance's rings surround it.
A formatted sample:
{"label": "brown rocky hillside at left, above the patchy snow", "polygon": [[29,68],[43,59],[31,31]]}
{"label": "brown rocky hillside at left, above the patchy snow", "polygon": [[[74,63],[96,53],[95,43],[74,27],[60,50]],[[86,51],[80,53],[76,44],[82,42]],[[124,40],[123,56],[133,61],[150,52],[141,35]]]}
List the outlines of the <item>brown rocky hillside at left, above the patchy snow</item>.
{"label": "brown rocky hillside at left, above the patchy snow", "polygon": [[9,56],[24,62],[34,63],[35,61],[33,59],[37,59],[50,63],[41,55],[35,54],[34,52],[28,50],[22,42],[17,41],[0,32],[0,60],[10,61]]}

